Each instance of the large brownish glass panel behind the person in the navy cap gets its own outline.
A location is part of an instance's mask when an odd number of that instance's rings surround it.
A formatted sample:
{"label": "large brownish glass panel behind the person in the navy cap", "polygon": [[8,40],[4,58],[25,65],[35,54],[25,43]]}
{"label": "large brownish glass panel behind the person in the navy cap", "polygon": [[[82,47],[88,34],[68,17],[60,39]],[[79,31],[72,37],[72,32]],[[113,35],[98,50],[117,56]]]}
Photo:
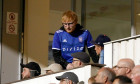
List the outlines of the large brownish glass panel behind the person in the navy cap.
{"label": "large brownish glass panel behind the person in the navy cap", "polygon": [[131,36],[131,0],[86,0],[85,4],[85,28],[93,39],[99,34],[112,40]]}

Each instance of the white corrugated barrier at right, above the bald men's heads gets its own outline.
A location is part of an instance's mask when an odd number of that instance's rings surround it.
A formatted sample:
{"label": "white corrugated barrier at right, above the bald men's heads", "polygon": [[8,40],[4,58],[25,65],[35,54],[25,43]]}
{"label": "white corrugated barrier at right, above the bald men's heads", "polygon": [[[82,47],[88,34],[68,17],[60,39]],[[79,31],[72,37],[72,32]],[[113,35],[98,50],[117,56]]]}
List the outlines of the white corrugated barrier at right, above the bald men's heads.
{"label": "white corrugated barrier at right, above the bald men's heads", "polygon": [[113,67],[121,58],[131,58],[140,64],[140,35],[104,43],[104,63]]}

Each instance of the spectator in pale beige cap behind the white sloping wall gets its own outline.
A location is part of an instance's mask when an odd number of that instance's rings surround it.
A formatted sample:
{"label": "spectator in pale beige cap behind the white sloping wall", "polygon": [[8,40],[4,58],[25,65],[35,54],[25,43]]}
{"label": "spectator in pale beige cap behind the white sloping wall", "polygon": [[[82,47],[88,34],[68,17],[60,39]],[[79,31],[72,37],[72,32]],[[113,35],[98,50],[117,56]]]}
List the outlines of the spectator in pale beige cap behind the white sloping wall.
{"label": "spectator in pale beige cap behind the white sloping wall", "polygon": [[59,72],[59,71],[63,70],[63,68],[60,64],[53,63],[53,64],[49,65],[48,67],[44,68],[44,70],[46,71],[46,74],[51,74],[54,72]]}

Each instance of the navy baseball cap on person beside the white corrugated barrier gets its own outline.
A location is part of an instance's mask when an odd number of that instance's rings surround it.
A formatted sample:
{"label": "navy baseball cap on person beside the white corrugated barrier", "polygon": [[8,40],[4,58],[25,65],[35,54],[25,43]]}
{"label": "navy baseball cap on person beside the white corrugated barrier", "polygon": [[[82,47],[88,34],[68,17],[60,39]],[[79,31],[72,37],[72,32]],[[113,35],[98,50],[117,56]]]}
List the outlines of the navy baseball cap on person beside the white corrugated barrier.
{"label": "navy baseball cap on person beside the white corrugated barrier", "polygon": [[100,45],[101,47],[104,47],[104,44],[105,42],[109,42],[111,41],[110,38],[106,35],[103,35],[103,34],[100,34],[96,40],[93,42],[93,44],[95,45]]}

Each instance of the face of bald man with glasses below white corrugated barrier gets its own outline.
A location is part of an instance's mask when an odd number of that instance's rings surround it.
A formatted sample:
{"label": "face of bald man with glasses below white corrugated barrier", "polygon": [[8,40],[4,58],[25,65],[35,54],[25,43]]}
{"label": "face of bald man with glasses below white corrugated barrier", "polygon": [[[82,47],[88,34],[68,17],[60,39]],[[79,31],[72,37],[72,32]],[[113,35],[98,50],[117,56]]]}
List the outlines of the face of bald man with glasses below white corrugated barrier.
{"label": "face of bald man with glasses below white corrugated barrier", "polygon": [[119,61],[116,68],[115,68],[115,73],[117,76],[119,75],[124,75],[126,76],[126,71],[127,71],[127,67],[125,67],[124,62]]}

